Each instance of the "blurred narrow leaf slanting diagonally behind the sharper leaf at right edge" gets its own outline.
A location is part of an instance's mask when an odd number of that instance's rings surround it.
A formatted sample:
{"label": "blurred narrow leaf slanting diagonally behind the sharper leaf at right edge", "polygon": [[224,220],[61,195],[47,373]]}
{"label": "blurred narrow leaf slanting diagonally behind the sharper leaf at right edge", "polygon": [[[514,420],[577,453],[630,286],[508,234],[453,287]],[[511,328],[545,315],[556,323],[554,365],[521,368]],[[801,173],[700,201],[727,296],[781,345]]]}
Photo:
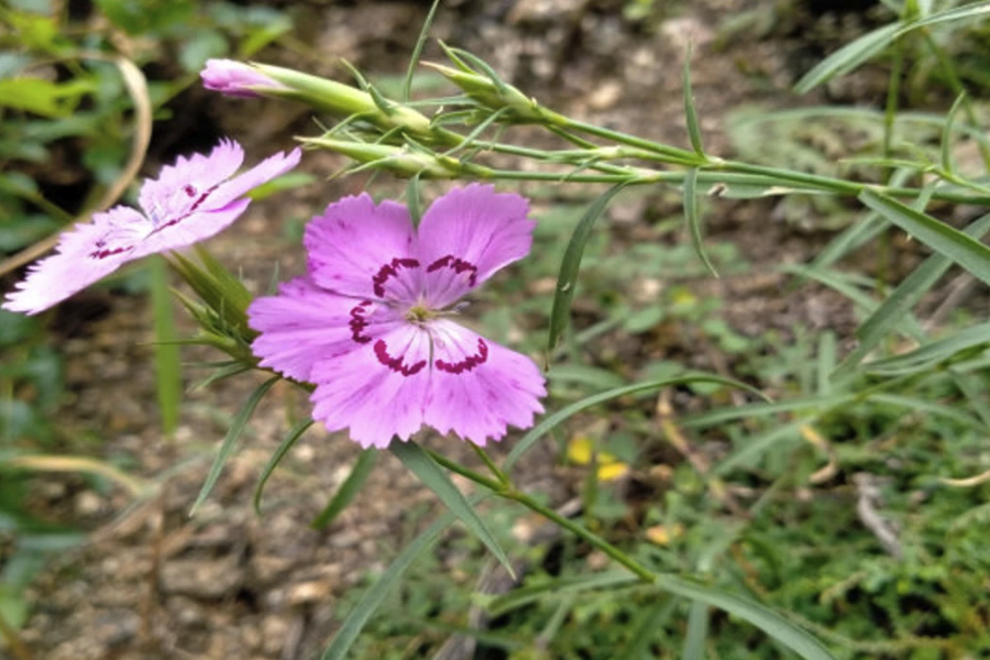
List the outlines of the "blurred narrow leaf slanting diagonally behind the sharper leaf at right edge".
{"label": "blurred narrow leaf slanting diagonally behind the sharper leaf at right edge", "polygon": [[[971,222],[965,233],[980,239],[988,231],[990,231],[990,213]],[[914,268],[856,330],[859,345],[843,360],[832,378],[842,380],[851,373],[862,362],[862,359],[900,324],[904,315],[945,275],[952,261],[947,256],[933,254]]]}

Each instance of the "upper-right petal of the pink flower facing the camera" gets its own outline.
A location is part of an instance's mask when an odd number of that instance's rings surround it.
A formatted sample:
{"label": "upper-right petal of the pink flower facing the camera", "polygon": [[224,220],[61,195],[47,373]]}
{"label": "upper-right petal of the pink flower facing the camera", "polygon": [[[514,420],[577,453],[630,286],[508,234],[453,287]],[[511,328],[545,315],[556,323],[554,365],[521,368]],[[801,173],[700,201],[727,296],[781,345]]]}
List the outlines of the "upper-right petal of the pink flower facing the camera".
{"label": "upper-right petal of the pink flower facing the camera", "polygon": [[426,302],[443,308],[532,245],[529,204],[492,186],[472,184],[435,201],[419,226]]}

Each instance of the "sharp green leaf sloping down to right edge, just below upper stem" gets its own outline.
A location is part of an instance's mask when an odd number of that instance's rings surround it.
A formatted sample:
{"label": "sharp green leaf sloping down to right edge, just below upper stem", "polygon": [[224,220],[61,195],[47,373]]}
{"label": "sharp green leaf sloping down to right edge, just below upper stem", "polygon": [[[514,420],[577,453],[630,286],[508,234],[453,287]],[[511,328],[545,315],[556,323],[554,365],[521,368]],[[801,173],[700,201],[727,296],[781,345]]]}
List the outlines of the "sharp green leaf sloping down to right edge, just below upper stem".
{"label": "sharp green leaf sloping down to right edge, just below upper stem", "polygon": [[931,216],[871,190],[864,190],[859,200],[975,277],[990,284],[990,248],[987,245]]}

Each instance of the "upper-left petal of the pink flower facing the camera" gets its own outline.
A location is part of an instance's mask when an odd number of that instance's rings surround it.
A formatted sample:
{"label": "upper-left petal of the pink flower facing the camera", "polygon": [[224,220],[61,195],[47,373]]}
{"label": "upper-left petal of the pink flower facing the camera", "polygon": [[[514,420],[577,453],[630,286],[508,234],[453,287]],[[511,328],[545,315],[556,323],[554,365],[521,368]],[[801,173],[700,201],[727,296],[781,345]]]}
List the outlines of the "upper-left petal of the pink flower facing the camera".
{"label": "upper-left petal of the pink flower facing the camera", "polygon": [[415,304],[420,294],[416,232],[406,207],[344,197],[306,228],[314,282],[345,296]]}

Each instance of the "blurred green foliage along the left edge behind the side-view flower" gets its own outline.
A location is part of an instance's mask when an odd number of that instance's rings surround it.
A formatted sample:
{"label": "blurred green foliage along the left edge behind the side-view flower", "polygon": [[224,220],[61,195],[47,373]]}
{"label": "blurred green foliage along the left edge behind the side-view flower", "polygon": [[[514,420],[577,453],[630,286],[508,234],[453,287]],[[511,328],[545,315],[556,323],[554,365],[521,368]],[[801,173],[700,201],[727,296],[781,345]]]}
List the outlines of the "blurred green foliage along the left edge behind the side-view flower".
{"label": "blurred green foliage along the left edge behind the side-view flower", "polygon": [[[144,69],[164,120],[207,58],[249,57],[290,26],[277,10],[223,1],[0,4],[0,261],[85,218],[122,176],[134,100],[113,57]],[[13,279],[2,279],[7,290]],[[54,415],[62,372],[44,318],[0,310],[0,617],[13,627],[28,616],[24,590],[48,551],[79,539],[31,506],[37,476],[10,464],[79,450]],[[0,654],[3,646],[0,638]]]}

